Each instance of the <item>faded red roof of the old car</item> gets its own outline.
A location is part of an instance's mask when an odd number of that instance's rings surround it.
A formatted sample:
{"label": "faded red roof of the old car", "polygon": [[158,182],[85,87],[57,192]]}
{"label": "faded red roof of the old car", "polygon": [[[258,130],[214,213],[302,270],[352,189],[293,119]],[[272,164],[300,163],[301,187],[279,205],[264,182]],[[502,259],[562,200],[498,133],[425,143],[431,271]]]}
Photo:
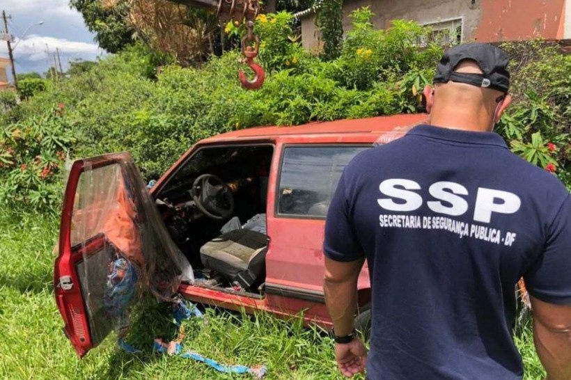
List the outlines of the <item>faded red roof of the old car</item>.
{"label": "faded red roof of the old car", "polygon": [[408,129],[428,121],[428,114],[414,113],[394,116],[377,116],[352,120],[310,122],[304,125],[285,127],[251,127],[226,132],[206,138],[201,143],[240,140],[243,138],[278,138],[279,136],[309,136],[336,134],[380,134],[383,132],[406,132]]}

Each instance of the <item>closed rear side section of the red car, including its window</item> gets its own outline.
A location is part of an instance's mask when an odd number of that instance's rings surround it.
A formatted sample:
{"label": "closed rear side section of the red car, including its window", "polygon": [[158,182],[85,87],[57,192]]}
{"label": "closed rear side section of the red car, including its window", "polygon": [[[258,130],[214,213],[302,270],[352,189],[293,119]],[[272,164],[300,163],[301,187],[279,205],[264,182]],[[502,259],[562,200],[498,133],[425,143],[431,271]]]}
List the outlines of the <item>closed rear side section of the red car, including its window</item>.
{"label": "closed rear side section of the red car, including its window", "polygon": [[[268,294],[324,303],[325,216],[343,168],[369,148],[359,143],[283,145],[273,214],[267,219],[272,238],[266,256]],[[362,271],[359,289],[368,286],[368,272]]]}

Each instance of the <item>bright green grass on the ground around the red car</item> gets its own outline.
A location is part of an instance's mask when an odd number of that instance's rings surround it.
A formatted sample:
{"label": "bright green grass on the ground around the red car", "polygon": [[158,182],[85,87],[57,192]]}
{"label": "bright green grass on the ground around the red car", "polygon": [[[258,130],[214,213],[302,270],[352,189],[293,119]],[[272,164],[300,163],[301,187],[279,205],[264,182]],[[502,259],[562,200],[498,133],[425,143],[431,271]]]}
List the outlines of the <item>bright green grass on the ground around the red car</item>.
{"label": "bright green grass on the ground around the red car", "polygon": [[[112,338],[79,360],[61,331],[52,283],[58,221],[34,213],[0,209],[0,379],[251,379],[220,374],[202,363],[152,354],[153,338],[172,338],[175,328],[165,306],[152,303],[134,318],[128,341],[143,349],[128,354]],[[332,342],[299,320],[271,315],[237,315],[208,308],[206,319],[183,324],[185,350],[220,363],[268,367],[267,379],[345,379],[338,374]],[[535,355],[531,330],[516,338],[526,380],[545,376]],[[363,379],[357,377],[356,379]]]}

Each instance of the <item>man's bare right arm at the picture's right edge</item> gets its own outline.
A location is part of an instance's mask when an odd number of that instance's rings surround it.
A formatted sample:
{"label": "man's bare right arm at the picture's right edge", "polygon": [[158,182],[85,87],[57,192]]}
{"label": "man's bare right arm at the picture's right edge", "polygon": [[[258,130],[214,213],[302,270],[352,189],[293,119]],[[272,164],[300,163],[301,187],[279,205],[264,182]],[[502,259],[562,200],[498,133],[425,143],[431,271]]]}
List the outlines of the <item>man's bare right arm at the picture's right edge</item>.
{"label": "man's bare right arm at the picture's right edge", "polygon": [[571,305],[556,305],[530,295],[533,341],[547,371],[546,380],[571,379]]}

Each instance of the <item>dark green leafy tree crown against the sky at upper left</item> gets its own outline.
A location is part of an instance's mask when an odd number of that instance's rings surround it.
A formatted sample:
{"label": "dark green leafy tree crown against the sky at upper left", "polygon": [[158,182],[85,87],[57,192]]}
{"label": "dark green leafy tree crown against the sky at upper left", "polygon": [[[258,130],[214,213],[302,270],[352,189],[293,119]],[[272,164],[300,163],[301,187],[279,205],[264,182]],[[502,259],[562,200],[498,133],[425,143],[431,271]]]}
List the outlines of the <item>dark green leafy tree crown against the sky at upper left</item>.
{"label": "dark green leafy tree crown against the sky at upper left", "polygon": [[130,2],[126,0],[70,0],[79,10],[87,28],[95,33],[95,41],[109,53],[117,53],[132,45],[135,30],[127,21]]}

